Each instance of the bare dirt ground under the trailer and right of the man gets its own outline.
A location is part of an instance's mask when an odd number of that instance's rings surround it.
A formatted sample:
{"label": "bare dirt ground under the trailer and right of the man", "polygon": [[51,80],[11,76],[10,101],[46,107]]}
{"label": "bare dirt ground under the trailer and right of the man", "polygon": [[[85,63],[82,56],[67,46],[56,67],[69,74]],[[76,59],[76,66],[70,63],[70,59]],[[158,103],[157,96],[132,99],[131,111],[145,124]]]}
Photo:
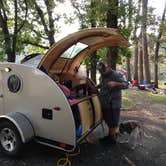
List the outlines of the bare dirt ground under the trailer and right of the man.
{"label": "bare dirt ground under the trailer and right of the man", "polygon": [[[70,157],[72,166],[166,166],[166,102],[152,102],[141,96],[129,96],[134,106],[121,112],[121,122],[135,120],[141,125],[142,145],[133,149],[128,143],[107,147],[98,141],[83,143],[80,153]],[[55,149],[30,143],[19,159],[0,153],[0,166],[56,166],[64,156]]]}

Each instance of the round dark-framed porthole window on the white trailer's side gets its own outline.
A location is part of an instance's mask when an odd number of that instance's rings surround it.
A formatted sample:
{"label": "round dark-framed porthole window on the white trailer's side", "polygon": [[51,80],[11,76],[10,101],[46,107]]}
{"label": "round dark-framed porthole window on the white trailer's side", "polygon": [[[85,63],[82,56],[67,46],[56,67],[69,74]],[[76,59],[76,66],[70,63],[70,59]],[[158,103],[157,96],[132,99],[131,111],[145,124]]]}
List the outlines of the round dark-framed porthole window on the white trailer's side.
{"label": "round dark-framed porthole window on the white trailer's side", "polygon": [[21,80],[17,75],[11,75],[8,78],[8,88],[10,92],[17,93],[21,88]]}

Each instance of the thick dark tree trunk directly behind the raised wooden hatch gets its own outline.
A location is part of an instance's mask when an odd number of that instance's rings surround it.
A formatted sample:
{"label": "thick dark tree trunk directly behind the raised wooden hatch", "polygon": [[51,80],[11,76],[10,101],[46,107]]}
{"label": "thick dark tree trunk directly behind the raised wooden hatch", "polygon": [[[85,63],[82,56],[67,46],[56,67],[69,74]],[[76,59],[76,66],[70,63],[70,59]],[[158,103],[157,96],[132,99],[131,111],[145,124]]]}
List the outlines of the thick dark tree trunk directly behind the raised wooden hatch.
{"label": "thick dark tree trunk directly behind the raised wooden hatch", "polygon": [[[108,0],[109,9],[107,11],[107,27],[118,28],[118,0]],[[109,48],[107,58],[112,69],[116,70],[116,62],[118,58],[117,49]]]}

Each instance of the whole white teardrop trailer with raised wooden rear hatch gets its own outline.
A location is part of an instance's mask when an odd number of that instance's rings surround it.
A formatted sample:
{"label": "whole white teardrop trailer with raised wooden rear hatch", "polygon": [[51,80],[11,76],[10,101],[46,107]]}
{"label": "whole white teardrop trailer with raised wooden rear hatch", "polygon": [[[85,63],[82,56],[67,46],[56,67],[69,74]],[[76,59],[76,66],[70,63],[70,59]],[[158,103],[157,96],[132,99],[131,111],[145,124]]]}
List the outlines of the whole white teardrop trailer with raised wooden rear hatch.
{"label": "whole white teardrop trailer with raised wooden rear hatch", "polygon": [[[23,144],[38,143],[72,152],[102,121],[102,111],[94,84],[78,77],[80,64],[102,47],[129,46],[115,29],[95,28],[73,33],[54,44],[37,67],[0,63],[0,148],[10,156]],[[52,80],[70,81],[70,88],[85,92],[73,109]],[[88,89],[88,90],[87,90]],[[77,97],[77,95],[75,95]]]}

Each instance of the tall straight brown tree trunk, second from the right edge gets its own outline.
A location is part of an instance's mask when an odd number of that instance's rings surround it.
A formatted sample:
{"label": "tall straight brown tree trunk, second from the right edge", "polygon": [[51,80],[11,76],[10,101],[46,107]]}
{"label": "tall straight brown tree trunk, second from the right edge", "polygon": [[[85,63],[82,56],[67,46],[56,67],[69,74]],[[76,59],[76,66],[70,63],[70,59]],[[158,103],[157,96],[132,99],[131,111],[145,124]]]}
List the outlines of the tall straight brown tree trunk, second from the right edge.
{"label": "tall straight brown tree trunk, second from the right edge", "polygon": [[151,79],[150,79],[149,55],[148,55],[148,45],[147,45],[147,35],[146,35],[147,4],[148,0],[142,1],[142,48],[143,48],[145,79],[147,83],[150,83]]}

